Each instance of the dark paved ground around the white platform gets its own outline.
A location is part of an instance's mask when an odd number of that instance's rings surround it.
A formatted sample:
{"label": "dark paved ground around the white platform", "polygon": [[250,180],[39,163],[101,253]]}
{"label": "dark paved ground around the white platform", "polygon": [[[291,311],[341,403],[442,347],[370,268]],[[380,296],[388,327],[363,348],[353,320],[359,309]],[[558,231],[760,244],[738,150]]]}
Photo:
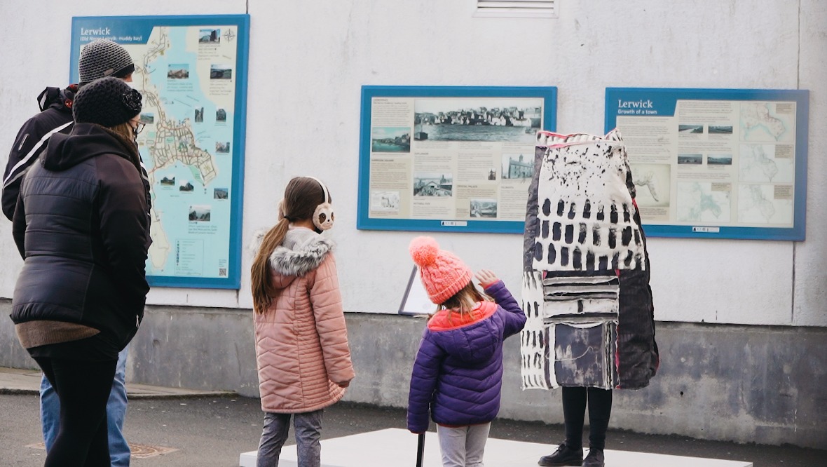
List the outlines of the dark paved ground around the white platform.
{"label": "dark paved ground around the white platform", "polygon": [[[26,372],[24,372],[26,373]],[[11,388],[19,373],[0,368],[0,465],[43,465],[45,451],[29,445],[42,442],[38,421],[36,373],[29,383]],[[10,374],[12,376],[10,376]],[[25,381],[24,381],[25,383]],[[261,435],[261,407],[257,399],[205,394],[128,384],[131,395],[125,432],[133,454],[151,455],[132,461],[133,467],[236,467],[241,452],[255,450]],[[361,404],[339,403],[325,412],[323,436],[333,438],[384,428],[404,428],[404,411]],[[491,436],[517,441],[556,443],[562,426],[538,422],[496,420]],[[414,465],[416,437],[411,451],[399,453],[398,465]],[[289,441],[292,444],[293,441]],[[609,431],[607,447],[662,454],[747,460],[755,467],[827,465],[827,451],[794,446],[739,445],[700,441],[681,436],[646,436]],[[163,448],[174,449],[154,455]],[[549,446],[549,452],[554,446]],[[609,466],[610,467],[610,466]]]}

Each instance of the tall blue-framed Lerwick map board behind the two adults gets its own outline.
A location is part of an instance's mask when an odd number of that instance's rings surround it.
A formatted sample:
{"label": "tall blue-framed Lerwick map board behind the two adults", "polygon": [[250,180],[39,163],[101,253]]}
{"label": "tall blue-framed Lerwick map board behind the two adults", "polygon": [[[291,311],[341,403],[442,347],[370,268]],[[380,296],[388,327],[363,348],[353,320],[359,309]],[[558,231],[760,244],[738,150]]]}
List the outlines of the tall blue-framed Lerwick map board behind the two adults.
{"label": "tall blue-framed Lerwick map board behind the two adults", "polygon": [[73,83],[90,41],[115,41],[135,62],[151,286],[240,287],[249,29],[248,15],[72,18]]}

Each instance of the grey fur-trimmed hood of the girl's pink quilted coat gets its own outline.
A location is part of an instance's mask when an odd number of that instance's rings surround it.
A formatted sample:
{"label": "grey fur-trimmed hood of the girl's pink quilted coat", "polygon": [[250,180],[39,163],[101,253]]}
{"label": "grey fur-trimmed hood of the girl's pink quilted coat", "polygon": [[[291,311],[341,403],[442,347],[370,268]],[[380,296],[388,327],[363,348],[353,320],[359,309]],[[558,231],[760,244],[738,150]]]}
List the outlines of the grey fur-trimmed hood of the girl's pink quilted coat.
{"label": "grey fur-trimmed hood of the girl's pink quilted coat", "polygon": [[284,241],[270,254],[270,270],[276,288],[290,285],[296,277],[302,277],[322,264],[333,251],[330,238],[303,227],[291,228]]}

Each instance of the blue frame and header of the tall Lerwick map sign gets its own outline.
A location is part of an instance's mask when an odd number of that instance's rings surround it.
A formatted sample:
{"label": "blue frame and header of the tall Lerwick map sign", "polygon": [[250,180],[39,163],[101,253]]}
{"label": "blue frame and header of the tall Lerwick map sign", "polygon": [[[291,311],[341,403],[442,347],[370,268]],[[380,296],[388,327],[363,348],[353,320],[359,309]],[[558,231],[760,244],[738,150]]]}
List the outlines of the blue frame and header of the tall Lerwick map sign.
{"label": "blue frame and header of the tall Lerwick map sign", "polygon": [[[227,277],[151,276],[151,286],[213,289],[241,288],[241,211],[243,206],[244,155],[246,143],[247,67],[250,51],[250,15],[73,17],[69,81],[77,83],[81,47],[88,41],[106,38],[119,44],[146,44],[157,26],[236,26],[237,64],[233,114],[232,187],[230,189],[229,251]],[[174,254],[174,252],[170,253]]]}

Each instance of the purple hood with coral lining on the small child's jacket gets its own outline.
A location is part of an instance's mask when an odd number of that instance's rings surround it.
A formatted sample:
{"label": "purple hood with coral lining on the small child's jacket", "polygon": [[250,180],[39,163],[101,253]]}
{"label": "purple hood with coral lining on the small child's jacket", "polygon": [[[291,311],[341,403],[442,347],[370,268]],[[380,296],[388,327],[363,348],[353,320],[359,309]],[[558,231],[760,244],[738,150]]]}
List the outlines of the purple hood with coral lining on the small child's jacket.
{"label": "purple hood with coral lining on the small child's jacket", "polygon": [[466,363],[487,362],[503,340],[502,328],[492,319],[497,309],[494,302],[482,301],[465,322],[456,313],[442,310],[428,321],[428,330],[453,358]]}

